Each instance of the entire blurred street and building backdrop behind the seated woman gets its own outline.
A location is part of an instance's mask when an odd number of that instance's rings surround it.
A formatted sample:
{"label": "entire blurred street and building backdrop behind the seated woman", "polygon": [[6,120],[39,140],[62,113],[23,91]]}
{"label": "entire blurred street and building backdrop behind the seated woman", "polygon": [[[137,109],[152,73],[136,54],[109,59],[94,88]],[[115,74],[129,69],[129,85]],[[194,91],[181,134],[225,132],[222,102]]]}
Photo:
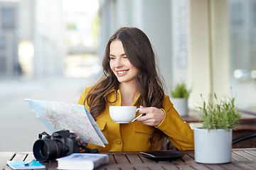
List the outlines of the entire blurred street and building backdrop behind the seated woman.
{"label": "entire blurred street and building backdrop behind the seated woman", "polygon": [[32,151],[48,131],[25,98],[77,103],[102,74],[117,28],[148,35],[165,91],[232,94],[256,114],[255,0],[0,0],[0,152]]}

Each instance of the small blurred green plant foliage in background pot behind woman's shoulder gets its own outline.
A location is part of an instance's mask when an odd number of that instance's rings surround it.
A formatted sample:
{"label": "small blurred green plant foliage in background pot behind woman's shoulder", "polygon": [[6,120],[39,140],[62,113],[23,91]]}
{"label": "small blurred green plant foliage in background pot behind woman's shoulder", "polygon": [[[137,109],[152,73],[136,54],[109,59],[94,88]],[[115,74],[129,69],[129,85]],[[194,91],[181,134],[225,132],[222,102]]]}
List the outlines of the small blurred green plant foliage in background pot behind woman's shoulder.
{"label": "small blurred green plant foliage in background pot behind woman's shoulder", "polygon": [[187,98],[189,94],[191,93],[191,89],[186,88],[186,84],[184,82],[181,82],[180,84],[176,84],[175,89],[171,90],[171,96],[173,98]]}

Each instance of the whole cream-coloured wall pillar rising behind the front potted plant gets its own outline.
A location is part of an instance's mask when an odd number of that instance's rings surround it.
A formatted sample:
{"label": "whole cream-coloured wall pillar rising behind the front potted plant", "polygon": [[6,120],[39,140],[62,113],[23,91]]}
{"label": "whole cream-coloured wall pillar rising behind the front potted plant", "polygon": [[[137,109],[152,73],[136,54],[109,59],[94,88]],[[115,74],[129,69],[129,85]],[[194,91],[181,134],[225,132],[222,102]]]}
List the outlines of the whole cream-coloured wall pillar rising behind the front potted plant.
{"label": "whole cream-coloured wall pillar rising behind the front potted plant", "polygon": [[188,80],[193,86],[190,107],[201,96],[230,94],[228,7],[225,0],[189,1]]}

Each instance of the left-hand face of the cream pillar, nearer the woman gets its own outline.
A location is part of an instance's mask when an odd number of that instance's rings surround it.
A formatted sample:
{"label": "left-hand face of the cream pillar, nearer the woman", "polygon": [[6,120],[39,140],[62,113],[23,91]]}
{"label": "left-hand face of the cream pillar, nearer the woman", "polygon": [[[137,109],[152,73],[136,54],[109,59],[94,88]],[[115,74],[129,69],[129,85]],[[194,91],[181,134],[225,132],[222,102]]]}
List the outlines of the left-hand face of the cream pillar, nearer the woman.
{"label": "left-hand face of the cream pillar, nearer the woman", "polygon": [[200,94],[210,97],[210,21],[209,1],[195,0],[189,4],[188,20],[188,81],[193,86],[190,106],[198,106]]}

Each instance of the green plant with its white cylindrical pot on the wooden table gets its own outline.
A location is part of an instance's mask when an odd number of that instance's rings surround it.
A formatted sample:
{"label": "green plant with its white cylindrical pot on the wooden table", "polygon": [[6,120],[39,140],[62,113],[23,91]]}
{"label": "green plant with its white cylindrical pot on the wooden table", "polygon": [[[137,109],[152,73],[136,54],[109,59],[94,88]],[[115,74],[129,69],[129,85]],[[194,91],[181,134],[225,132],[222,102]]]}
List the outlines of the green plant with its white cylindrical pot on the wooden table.
{"label": "green plant with its white cylindrical pot on the wooden table", "polygon": [[232,132],[241,115],[235,107],[235,98],[225,95],[218,101],[214,94],[213,100],[208,101],[208,106],[203,100],[203,105],[198,107],[203,127],[194,129],[195,160],[204,164],[223,164],[231,162]]}

